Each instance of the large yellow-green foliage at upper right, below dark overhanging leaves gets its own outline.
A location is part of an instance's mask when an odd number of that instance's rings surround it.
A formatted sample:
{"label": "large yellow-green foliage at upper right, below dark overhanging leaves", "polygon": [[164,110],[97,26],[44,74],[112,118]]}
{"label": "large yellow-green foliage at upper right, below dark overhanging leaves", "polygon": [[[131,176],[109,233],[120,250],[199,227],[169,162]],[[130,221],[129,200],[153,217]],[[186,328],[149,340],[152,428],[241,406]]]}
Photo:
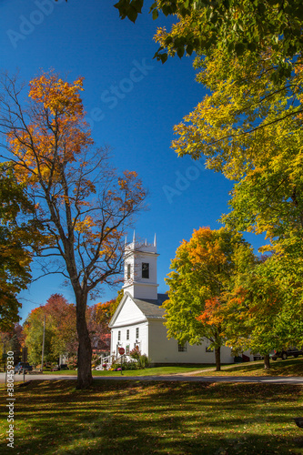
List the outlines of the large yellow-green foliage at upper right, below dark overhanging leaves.
{"label": "large yellow-green foliage at upper right, below dark overhanging leaves", "polygon": [[266,60],[243,67],[216,53],[198,65],[211,95],[175,127],[173,147],[206,157],[208,168],[235,182],[225,223],[302,256],[302,64],[279,89]]}

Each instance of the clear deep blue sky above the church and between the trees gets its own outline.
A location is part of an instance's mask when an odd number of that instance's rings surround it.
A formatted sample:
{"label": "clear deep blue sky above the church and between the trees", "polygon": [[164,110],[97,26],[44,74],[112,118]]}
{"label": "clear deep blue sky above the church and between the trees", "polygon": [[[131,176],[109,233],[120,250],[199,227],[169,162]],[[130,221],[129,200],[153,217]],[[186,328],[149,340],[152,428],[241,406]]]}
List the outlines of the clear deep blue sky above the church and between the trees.
{"label": "clear deep blue sky above the church and between the trees", "polygon": [[[157,26],[170,19],[153,21],[145,6],[134,25],[119,19],[115,3],[1,0],[0,66],[9,73],[19,70],[26,83],[41,68],[54,68],[71,81],[85,77],[83,100],[96,145],[111,146],[115,166],[136,170],[149,190],[149,210],[138,217],[136,233],[149,242],[157,233],[159,292],[165,292],[164,278],[180,241],[194,228],[220,227],[231,183],[170,148],[173,126],[205,94],[195,82],[191,58],[165,65],[152,58]],[[262,243],[246,237],[255,248]],[[21,316],[55,292],[74,301],[61,278],[43,278],[22,293]],[[114,297],[116,290],[105,289],[97,301]]]}

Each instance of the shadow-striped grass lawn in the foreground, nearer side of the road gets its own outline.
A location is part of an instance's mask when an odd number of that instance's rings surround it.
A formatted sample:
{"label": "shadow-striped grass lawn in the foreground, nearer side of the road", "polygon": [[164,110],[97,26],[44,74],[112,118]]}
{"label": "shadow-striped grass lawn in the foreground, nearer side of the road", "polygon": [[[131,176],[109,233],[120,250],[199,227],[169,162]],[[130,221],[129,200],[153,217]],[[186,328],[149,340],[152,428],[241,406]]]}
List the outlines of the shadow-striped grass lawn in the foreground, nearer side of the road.
{"label": "shadow-striped grass lawn in the foreground, nearer side of the road", "polygon": [[[5,386],[0,394],[7,398]],[[302,388],[278,384],[74,380],[15,385],[10,454],[303,454]]]}

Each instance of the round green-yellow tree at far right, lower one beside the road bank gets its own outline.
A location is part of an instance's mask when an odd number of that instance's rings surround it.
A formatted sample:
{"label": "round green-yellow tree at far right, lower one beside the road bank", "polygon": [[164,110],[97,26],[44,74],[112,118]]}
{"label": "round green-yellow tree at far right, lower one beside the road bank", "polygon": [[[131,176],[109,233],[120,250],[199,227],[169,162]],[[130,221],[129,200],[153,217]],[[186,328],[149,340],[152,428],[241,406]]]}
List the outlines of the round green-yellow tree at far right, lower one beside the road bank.
{"label": "round green-yellow tree at far right, lower one beside the road bank", "polygon": [[227,345],[261,354],[265,369],[273,349],[301,346],[303,340],[302,282],[289,271],[284,257],[258,258],[237,275],[225,298]]}

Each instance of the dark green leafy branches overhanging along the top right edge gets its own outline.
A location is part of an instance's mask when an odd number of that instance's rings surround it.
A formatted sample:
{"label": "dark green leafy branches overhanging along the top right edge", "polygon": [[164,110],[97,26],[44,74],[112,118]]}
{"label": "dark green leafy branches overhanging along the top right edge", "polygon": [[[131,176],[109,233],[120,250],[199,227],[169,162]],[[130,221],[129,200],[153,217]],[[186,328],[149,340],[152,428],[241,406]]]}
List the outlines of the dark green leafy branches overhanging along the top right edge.
{"label": "dark green leafy branches overhanging along the top right edge", "polygon": [[[143,0],[119,0],[116,8],[122,19],[132,22],[141,14]],[[270,47],[275,78],[290,74],[292,60],[303,49],[303,8],[300,0],[157,0],[149,9],[154,19],[159,13],[173,15],[175,24],[167,32],[158,29],[157,58],[182,57],[196,52],[209,56],[218,50],[227,57],[251,53],[258,61]]]}

